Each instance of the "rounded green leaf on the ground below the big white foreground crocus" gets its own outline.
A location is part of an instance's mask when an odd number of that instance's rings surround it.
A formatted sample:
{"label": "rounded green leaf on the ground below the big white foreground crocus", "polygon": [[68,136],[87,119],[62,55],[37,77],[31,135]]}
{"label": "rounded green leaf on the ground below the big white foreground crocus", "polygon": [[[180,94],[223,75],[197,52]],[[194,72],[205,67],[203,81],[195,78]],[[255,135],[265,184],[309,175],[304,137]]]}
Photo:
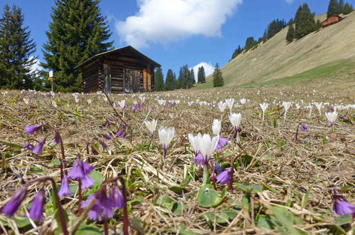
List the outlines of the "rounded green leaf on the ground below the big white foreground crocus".
{"label": "rounded green leaf on the ground below the big white foreground crocus", "polygon": [[198,190],[197,200],[198,204],[201,207],[218,207],[219,204],[223,202],[225,197],[225,192],[222,192],[221,197],[218,195],[218,192],[213,189],[212,184],[205,184]]}

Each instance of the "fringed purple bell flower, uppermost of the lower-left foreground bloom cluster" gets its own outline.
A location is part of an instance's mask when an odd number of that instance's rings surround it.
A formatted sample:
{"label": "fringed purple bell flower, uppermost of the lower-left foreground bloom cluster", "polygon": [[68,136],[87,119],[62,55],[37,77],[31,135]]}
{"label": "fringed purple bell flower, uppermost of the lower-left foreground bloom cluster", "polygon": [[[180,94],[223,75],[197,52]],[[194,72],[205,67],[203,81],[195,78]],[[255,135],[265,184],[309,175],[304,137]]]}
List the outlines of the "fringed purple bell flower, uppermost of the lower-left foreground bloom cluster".
{"label": "fringed purple bell flower, uppermost of the lower-left foreground bloom cluster", "polygon": [[88,175],[94,168],[95,167],[91,166],[90,164],[77,159],[73,164],[73,168],[68,174],[68,178],[81,180],[83,189],[87,189],[88,187],[95,184],[95,180]]}

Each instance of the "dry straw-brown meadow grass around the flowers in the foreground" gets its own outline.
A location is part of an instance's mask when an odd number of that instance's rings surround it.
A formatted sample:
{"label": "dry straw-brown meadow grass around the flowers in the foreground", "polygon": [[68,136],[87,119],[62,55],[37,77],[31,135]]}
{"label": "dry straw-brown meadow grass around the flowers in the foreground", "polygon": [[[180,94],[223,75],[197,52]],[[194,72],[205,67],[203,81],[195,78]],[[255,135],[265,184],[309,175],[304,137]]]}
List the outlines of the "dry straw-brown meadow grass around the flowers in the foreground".
{"label": "dry straw-brown meadow grass around the flowers in the foreground", "polygon": [[[260,95],[257,91],[260,90]],[[282,93],[282,95],[280,94]],[[165,97],[169,94],[169,97]],[[31,104],[23,103],[23,96],[31,98]],[[118,174],[127,178],[127,188],[130,205],[129,217],[134,221],[136,234],[188,234],[187,231],[197,234],[280,234],[290,233],[285,226],[277,225],[270,231],[258,224],[260,216],[274,216],[272,208],[276,205],[289,211],[288,213],[300,219],[300,224],[293,224],[298,231],[308,234],[341,234],[349,231],[352,224],[337,226],[334,222],[336,214],[332,211],[332,197],[329,194],[331,185],[341,188],[348,186],[344,192],[349,202],[355,203],[355,132],[353,124],[340,122],[334,128],[327,126],[324,111],[334,104],[354,104],[351,97],[342,94],[315,92],[304,88],[248,88],[176,91],[171,93],[146,94],[146,101],[142,110],[130,110],[134,101],[139,102],[138,96],[111,95],[115,102],[127,100],[129,106],[124,120],[129,125],[129,136],[122,139],[107,141],[108,150],[99,148],[99,155],[90,155],[86,152],[86,144],[93,137],[100,137],[103,133],[114,135],[122,127],[117,115],[112,108],[102,99],[102,95],[80,95],[80,98],[90,98],[92,104],[86,101],[76,104],[70,94],[56,94],[48,98],[41,93],[25,92],[21,95],[18,91],[9,91],[7,95],[0,94],[0,150],[4,160],[4,167],[0,174],[0,207],[4,205],[15,189],[21,184],[41,176],[51,176],[59,180],[60,170],[51,164],[60,158],[60,149],[53,144],[50,135],[42,155],[35,155],[31,151],[23,150],[23,146],[30,138],[24,134],[26,125],[35,123],[51,123],[60,130],[65,145],[65,155],[68,162],[73,162],[80,153],[83,159],[93,158],[91,164],[95,165],[104,179],[115,177]],[[179,105],[164,108],[158,105],[157,97],[165,100],[181,100]],[[240,147],[233,140],[233,128],[228,120],[228,108],[221,114],[217,107],[191,106],[185,101],[199,99],[201,101],[216,102],[225,98],[235,98],[239,104],[240,98],[250,101],[244,107],[235,107],[233,112],[242,113],[242,132],[240,133]],[[272,112],[266,116],[265,122],[260,118],[259,103],[267,99]],[[58,108],[53,108],[52,100],[56,100]],[[292,105],[287,119],[283,120],[283,109],[272,105],[272,100],[292,101],[300,103],[304,100],[302,108],[296,110]],[[309,110],[304,105],[310,102],[329,102],[319,116],[316,108]],[[151,110],[154,105],[155,109]],[[269,106],[270,107],[270,106]],[[120,108],[117,108],[120,113]],[[348,117],[355,115],[354,109],[340,110],[339,116]],[[277,119],[277,127],[273,127],[273,118]],[[116,124],[107,130],[103,125],[105,119],[113,118]],[[184,179],[184,167],[190,169],[193,151],[187,139],[188,133],[211,133],[213,119],[223,120],[221,136],[232,141],[222,150],[218,150],[216,157],[220,162],[230,162],[235,156],[250,155],[253,160],[250,164],[240,165],[235,169],[234,181],[240,184],[265,184],[270,189],[276,189],[280,194],[270,190],[263,190],[251,197],[250,205],[254,209],[249,211],[241,209],[243,192],[235,187],[227,189],[226,199],[216,208],[206,209],[198,205],[196,196],[201,187],[202,171],[196,167],[196,179],[186,186],[184,194],[176,194],[169,187],[179,185]],[[157,119],[158,128],[175,127],[176,136],[168,150],[166,166],[161,169],[161,145],[156,134],[152,145],[149,147],[148,131],[142,125],[143,120]],[[300,132],[300,140],[295,141],[297,125],[302,122],[308,125],[306,132]],[[35,135],[37,140],[51,134],[50,130],[43,130]],[[327,142],[323,139],[327,138]],[[280,142],[285,145],[280,146]],[[11,145],[12,144],[12,145]],[[272,156],[272,158],[271,158]],[[240,160],[240,157],[238,158]],[[71,164],[70,164],[71,165]],[[69,167],[70,168],[70,167]],[[160,169],[159,171],[157,169]],[[190,172],[193,174],[193,172]],[[312,187],[312,189],[310,189]],[[221,193],[223,186],[217,184],[217,191]],[[23,204],[31,202],[31,197],[38,186],[31,187],[31,193]],[[50,187],[48,186],[48,194]],[[305,194],[310,189],[307,206],[302,208]],[[171,209],[162,207],[154,202],[161,195],[167,195],[176,202],[184,204],[181,214],[174,214]],[[134,202],[135,200],[135,202]],[[49,200],[47,200],[50,204]],[[63,207],[68,214],[75,214],[77,209],[76,199],[63,200]],[[18,214],[25,214],[21,207]],[[221,211],[235,213],[233,218],[225,223],[208,221],[206,212],[217,218]],[[14,220],[0,214],[0,228],[5,234],[38,234],[46,231],[50,234],[55,229],[51,207],[46,208],[46,222],[18,229]],[[73,219],[74,217],[72,217]],[[274,218],[274,217],[272,217]],[[277,221],[277,219],[275,219]],[[88,224],[102,224],[86,221]],[[121,228],[122,217],[117,213],[112,219],[112,225]],[[46,230],[47,229],[47,230]]]}

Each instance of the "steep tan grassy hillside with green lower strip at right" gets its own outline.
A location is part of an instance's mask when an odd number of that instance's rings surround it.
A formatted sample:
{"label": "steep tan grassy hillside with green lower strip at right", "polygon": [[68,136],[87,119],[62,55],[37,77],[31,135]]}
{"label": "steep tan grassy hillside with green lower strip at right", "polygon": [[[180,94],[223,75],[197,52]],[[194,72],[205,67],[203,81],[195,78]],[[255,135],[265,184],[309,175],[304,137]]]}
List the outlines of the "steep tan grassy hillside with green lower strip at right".
{"label": "steep tan grassy hillside with green lower strip at right", "polygon": [[[225,86],[270,85],[296,80],[351,75],[355,69],[355,12],[327,28],[287,43],[287,27],[253,51],[240,54],[221,68]],[[321,21],[326,14],[316,16]],[[212,76],[197,88],[211,88]]]}

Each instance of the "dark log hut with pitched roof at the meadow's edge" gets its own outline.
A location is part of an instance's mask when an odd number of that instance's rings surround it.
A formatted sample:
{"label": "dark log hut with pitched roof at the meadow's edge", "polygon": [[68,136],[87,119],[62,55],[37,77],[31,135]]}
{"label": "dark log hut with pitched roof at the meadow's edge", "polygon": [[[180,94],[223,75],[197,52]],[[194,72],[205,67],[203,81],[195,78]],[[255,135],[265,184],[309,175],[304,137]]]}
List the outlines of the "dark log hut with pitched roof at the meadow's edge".
{"label": "dark log hut with pitched roof at the meadow's edge", "polygon": [[137,93],[154,90],[159,63],[132,46],[92,56],[76,68],[82,72],[83,92]]}

